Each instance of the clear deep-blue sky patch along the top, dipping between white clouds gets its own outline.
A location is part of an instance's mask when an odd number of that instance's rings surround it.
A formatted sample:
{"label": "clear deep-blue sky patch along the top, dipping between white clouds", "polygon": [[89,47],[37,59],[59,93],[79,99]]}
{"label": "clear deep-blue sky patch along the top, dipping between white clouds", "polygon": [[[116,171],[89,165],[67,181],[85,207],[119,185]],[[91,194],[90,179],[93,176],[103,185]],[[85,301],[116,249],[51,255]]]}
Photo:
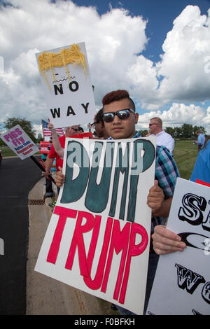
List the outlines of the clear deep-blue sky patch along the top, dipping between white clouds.
{"label": "clear deep-blue sky patch along the top, dipping between white clouds", "polygon": [[179,16],[181,11],[192,4],[199,6],[201,14],[207,15],[210,8],[210,0],[73,0],[78,6],[95,6],[100,15],[112,8],[126,8],[131,15],[142,15],[148,19],[146,34],[150,40],[143,54],[152,58],[155,62],[160,60],[162,53],[162,43],[167,32],[172,29],[174,19]]}

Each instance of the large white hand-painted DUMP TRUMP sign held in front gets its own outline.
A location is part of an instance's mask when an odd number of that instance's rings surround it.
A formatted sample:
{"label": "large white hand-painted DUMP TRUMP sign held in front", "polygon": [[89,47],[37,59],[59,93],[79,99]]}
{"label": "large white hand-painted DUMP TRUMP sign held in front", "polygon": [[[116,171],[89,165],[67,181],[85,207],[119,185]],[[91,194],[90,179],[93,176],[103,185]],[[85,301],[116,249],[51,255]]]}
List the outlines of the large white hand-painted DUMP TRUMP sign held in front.
{"label": "large white hand-painted DUMP TRUMP sign held in front", "polygon": [[154,141],[66,139],[65,184],[36,271],[143,313]]}

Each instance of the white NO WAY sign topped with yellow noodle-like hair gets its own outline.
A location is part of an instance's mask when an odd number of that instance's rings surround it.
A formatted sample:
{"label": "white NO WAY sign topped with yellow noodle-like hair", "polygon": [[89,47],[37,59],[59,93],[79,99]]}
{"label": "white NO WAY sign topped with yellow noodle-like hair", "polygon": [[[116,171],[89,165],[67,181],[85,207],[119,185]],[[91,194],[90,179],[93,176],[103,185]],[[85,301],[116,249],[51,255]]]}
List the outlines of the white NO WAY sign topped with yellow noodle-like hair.
{"label": "white NO WAY sign topped with yellow noodle-like hair", "polygon": [[38,52],[36,60],[54,127],[91,123],[96,107],[85,43]]}

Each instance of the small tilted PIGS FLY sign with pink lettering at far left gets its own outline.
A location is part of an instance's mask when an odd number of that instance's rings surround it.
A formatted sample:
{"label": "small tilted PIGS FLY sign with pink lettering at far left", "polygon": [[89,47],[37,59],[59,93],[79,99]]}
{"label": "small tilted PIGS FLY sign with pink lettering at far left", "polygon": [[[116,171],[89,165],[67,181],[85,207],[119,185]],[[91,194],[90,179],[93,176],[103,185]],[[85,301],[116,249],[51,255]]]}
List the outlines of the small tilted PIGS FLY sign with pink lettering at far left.
{"label": "small tilted PIGS FLY sign with pink lettering at far left", "polygon": [[1,135],[1,139],[8,145],[8,147],[15,152],[21,160],[30,157],[38,152],[38,147],[34,141],[26,134],[20,125],[8,130]]}

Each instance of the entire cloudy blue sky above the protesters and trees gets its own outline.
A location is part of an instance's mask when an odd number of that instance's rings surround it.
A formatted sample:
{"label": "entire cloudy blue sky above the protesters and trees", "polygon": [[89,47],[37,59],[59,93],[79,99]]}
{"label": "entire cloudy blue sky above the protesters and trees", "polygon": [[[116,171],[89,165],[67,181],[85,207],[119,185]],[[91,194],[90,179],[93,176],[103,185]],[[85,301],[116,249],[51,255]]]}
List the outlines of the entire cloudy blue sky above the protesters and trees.
{"label": "entire cloudy blue sky above the protesters and trees", "polygon": [[0,0],[0,123],[48,119],[35,54],[85,42],[96,108],[127,89],[139,129],[202,125],[210,134],[210,0]]}

